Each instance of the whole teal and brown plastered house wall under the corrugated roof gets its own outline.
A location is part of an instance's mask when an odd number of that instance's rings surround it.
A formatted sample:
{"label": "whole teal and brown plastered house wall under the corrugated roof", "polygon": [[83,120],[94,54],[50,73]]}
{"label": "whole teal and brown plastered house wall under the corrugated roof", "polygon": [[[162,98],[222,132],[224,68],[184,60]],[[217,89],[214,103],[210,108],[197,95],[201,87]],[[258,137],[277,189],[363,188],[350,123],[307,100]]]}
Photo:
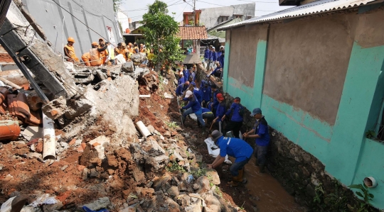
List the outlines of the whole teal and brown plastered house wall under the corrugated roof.
{"label": "whole teal and brown plastered house wall under the corrugated roof", "polygon": [[261,106],[272,128],[314,155],[342,184],[375,177],[379,186],[370,189],[372,203],[384,208],[384,145],[365,138],[375,128],[384,97],[380,20],[383,9],[271,24],[265,39],[253,37],[255,74],[248,76],[253,86],[232,77],[232,64],[242,62],[232,57],[242,48],[233,42],[232,30],[223,86],[230,96],[245,97],[248,109]]}

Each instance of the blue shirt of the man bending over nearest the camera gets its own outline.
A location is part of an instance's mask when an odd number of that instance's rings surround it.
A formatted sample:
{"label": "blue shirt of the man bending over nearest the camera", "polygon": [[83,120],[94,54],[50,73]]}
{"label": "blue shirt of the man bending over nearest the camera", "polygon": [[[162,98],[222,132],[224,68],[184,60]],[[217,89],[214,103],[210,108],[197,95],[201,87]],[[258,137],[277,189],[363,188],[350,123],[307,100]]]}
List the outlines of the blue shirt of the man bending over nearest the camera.
{"label": "blue shirt of the man bending over nearest the camera", "polygon": [[252,147],[240,138],[227,138],[221,136],[218,138],[217,143],[218,147],[220,147],[221,157],[229,155],[230,157],[236,158],[235,162],[242,162],[252,156]]}

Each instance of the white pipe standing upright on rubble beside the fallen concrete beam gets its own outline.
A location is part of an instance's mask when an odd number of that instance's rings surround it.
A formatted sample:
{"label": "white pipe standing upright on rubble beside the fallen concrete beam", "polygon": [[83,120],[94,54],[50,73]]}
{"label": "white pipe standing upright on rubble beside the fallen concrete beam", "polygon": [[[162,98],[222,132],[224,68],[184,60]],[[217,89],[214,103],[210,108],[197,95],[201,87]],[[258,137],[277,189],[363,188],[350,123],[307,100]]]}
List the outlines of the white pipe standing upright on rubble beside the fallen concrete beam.
{"label": "white pipe standing upright on rubble beside the fallen concrete beam", "polygon": [[55,127],[52,119],[43,113],[43,160],[56,158]]}

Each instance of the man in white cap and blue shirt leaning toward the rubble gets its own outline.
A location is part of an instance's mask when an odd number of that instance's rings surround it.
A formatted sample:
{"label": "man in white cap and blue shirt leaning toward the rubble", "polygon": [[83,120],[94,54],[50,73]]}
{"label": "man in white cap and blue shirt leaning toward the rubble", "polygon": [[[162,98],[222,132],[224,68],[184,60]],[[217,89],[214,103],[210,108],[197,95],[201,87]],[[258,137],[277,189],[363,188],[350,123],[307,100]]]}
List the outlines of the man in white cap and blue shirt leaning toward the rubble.
{"label": "man in white cap and blue shirt leaning toward the rubble", "polygon": [[203,120],[203,111],[201,110],[201,105],[196,99],[196,96],[192,93],[192,91],[188,90],[186,91],[186,98],[183,99],[184,101],[188,101],[188,104],[186,106],[178,106],[178,108],[186,110],[183,112],[183,123],[186,121],[186,116],[188,116],[191,113],[195,113],[198,122],[200,122],[201,127],[203,128],[203,133],[206,132],[206,123]]}

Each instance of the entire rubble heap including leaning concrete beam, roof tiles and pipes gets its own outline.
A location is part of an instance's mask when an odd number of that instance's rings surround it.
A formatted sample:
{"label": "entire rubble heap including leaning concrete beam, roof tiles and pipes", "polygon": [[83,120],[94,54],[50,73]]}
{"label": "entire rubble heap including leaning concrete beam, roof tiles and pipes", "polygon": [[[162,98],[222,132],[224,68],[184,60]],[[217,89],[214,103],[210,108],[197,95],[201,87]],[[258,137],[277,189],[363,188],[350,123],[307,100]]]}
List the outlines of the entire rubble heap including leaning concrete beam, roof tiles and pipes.
{"label": "entire rubble heap including leaning concrete beam, roof tiles and pipes", "polygon": [[193,148],[201,138],[175,121],[173,72],[63,62],[19,8],[0,33],[49,102],[36,87],[0,87],[1,212],[238,211]]}

